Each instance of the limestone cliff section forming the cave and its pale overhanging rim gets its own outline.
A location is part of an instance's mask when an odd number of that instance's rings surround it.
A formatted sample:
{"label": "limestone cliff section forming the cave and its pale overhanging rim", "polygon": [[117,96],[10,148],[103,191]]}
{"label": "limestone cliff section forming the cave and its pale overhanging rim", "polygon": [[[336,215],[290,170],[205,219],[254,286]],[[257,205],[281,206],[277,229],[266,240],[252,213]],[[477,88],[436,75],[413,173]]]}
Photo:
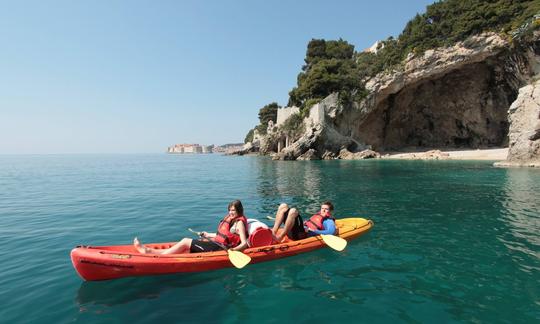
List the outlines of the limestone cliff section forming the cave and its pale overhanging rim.
{"label": "limestone cliff section forming the cave and its pale overhanging rim", "polygon": [[376,150],[507,145],[507,110],[534,75],[535,48],[493,33],[409,57],[369,80],[351,135]]}

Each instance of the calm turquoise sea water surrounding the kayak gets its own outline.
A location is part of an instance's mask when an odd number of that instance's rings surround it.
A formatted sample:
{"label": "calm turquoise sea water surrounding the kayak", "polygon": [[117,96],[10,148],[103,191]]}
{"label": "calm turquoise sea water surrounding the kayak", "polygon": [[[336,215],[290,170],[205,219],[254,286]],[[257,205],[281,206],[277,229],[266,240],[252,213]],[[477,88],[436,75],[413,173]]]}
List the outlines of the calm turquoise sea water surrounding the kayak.
{"label": "calm turquoise sea water surrounding the kayak", "polygon": [[[200,274],[83,282],[79,244],[214,230],[239,198],[372,231],[336,252]],[[2,323],[533,323],[540,170],[491,162],[271,161],[221,155],[0,155]]]}

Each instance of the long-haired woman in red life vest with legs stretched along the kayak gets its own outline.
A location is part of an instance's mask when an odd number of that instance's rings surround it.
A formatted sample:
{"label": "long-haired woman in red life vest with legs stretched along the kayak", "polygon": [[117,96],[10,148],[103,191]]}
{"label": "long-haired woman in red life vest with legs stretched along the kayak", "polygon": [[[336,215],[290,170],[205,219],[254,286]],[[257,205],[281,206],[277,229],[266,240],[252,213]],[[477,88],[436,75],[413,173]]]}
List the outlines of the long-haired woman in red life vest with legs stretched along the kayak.
{"label": "long-haired woman in red life vest with legs stretched along the kayak", "polygon": [[[247,244],[247,219],[244,216],[244,207],[240,200],[229,203],[229,213],[219,223],[216,233],[201,232],[201,239],[194,240],[183,238],[168,249],[149,248],[139,242],[137,238],[133,240],[133,245],[143,254],[180,254],[180,253],[200,253],[231,249],[242,251]],[[231,227],[235,226],[235,233],[231,232]]]}

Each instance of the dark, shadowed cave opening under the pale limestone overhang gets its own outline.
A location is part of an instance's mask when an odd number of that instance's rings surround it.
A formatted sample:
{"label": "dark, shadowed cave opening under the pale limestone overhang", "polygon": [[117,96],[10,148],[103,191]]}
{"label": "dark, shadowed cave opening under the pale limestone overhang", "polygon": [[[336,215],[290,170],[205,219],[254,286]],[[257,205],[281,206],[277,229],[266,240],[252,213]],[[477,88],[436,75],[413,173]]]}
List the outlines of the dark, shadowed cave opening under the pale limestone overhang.
{"label": "dark, shadowed cave opening under the pale limestone overhang", "polygon": [[380,151],[506,147],[517,95],[500,66],[470,64],[390,95],[359,133]]}

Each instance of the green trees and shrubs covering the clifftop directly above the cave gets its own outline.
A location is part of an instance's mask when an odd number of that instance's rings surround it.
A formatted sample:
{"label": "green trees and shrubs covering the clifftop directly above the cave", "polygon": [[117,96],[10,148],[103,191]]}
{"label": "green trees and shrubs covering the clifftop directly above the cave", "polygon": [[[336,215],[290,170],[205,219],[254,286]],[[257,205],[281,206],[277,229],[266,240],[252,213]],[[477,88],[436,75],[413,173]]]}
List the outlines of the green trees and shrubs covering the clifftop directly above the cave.
{"label": "green trees and shrubs covering the clifftop directly above the cave", "polygon": [[403,62],[409,53],[421,54],[432,48],[451,46],[485,31],[509,33],[535,14],[538,0],[446,0],[435,2],[423,14],[411,19],[397,39],[383,41],[377,55],[358,53],[360,71],[374,76]]}

